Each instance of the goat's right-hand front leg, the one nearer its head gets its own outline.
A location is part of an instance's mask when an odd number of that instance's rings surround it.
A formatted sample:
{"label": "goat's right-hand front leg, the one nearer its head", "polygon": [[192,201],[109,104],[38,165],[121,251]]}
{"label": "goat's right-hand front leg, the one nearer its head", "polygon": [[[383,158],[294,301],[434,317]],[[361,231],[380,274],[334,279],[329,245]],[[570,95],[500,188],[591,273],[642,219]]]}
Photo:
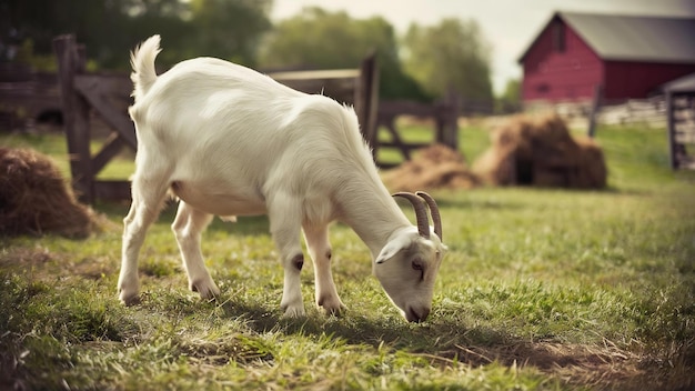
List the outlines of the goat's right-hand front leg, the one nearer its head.
{"label": "goat's right-hand front leg, the one nearer its head", "polygon": [[345,305],[338,295],[338,290],[333,282],[333,273],[331,273],[329,228],[325,224],[304,224],[303,228],[309,254],[314,261],[316,305],[323,307],[329,314],[340,314],[345,309]]}

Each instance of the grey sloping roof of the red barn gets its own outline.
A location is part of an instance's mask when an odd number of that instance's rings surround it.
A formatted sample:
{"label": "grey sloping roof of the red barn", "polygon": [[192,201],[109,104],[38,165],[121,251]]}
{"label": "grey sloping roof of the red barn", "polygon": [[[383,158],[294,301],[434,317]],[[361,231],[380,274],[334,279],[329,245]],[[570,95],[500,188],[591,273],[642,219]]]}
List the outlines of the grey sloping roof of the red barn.
{"label": "grey sloping roof of the red barn", "polygon": [[[561,11],[546,26],[555,18],[567,23],[604,60],[695,63],[695,18],[692,17]],[[520,62],[534,43],[535,39]]]}

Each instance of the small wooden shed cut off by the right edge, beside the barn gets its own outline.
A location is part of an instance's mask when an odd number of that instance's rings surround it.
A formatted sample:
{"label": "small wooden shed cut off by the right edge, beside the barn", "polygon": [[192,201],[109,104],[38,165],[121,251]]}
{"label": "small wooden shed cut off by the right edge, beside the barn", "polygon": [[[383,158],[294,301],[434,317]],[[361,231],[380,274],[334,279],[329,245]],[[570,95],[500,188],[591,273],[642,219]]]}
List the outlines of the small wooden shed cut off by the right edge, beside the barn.
{"label": "small wooden shed cut off by the right edge, beside the barn", "polygon": [[662,89],[666,94],[671,168],[695,170],[695,73]]}

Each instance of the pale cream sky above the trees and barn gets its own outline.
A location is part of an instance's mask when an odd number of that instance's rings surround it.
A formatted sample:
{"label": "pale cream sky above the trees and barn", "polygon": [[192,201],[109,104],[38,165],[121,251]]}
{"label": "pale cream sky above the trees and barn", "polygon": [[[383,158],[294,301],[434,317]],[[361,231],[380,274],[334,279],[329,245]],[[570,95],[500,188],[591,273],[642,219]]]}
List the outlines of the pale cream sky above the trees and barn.
{"label": "pale cream sky above the trees and barn", "polygon": [[312,6],[344,10],[355,19],[380,16],[399,34],[411,23],[432,26],[443,18],[475,19],[492,44],[496,93],[504,90],[507,80],[521,78],[518,57],[555,11],[695,16],[695,0],[274,0],[271,18],[280,21]]}

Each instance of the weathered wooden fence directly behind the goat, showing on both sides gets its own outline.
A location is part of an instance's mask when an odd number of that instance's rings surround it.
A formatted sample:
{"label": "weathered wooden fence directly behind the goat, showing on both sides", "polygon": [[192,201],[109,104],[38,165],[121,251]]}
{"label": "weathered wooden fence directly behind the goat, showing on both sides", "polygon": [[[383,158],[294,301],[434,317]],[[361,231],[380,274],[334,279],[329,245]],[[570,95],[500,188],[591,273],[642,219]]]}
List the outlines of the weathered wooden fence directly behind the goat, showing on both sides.
{"label": "weathered wooden fence directly behind the goat, showing on both sides", "polygon": [[[134,126],[127,114],[132,83],[127,76],[93,74],[84,70],[84,47],[74,36],[53,40],[59,70],[63,122],[70,157],[72,184],[80,198],[92,203],[95,199],[128,199],[130,183],[125,180],[97,180],[98,173],[123,148],[135,150]],[[294,71],[269,73],[275,80],[309,93],[324,93],[354,106],[365,140],[376,144],[376,111],[379,104],[379,72],[374,56],[360,69],[334,71]],[[111,128],[102,148],[90,150],[90,112],[93,111]]]}

